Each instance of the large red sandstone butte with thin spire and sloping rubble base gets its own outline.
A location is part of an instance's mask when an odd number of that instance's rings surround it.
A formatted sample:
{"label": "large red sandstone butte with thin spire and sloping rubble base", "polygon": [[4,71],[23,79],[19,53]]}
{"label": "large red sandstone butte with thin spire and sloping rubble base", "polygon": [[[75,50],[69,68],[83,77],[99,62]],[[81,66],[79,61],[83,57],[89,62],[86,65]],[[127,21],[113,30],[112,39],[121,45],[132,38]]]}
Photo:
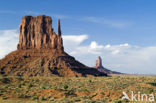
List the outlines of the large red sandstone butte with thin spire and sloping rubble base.
{"label": "large red sandstone butte with thin spire and sloping rubble base", "polygon": [[[64,51],[60,20],[58,33],[49,16],[24,16],[19,25],[17,50],[0,60],[6,76],[107,76],[75,60]],[[10,34],[11,35],[11,34]]]}

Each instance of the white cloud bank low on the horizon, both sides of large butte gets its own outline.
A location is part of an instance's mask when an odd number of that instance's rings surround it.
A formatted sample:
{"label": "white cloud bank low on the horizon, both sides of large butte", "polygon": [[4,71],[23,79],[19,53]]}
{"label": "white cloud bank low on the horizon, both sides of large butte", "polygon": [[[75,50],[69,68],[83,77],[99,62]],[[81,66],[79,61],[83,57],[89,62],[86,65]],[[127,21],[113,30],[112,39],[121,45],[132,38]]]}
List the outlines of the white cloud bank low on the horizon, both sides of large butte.
{"label": "white cloud bank low on the horizon, both sides of large butte", "polygon": [[[87,34],[63,35],[65,51],[88,66],[94,66],[97,56],[101,56],[103,65],[111,70],[156,74],[156,46],[139,47],[128,43],[102,45],[96,41],[83,43],[87,39]],[[16,50],[17,43],[17,30],[0,31],[0,57]]]}

